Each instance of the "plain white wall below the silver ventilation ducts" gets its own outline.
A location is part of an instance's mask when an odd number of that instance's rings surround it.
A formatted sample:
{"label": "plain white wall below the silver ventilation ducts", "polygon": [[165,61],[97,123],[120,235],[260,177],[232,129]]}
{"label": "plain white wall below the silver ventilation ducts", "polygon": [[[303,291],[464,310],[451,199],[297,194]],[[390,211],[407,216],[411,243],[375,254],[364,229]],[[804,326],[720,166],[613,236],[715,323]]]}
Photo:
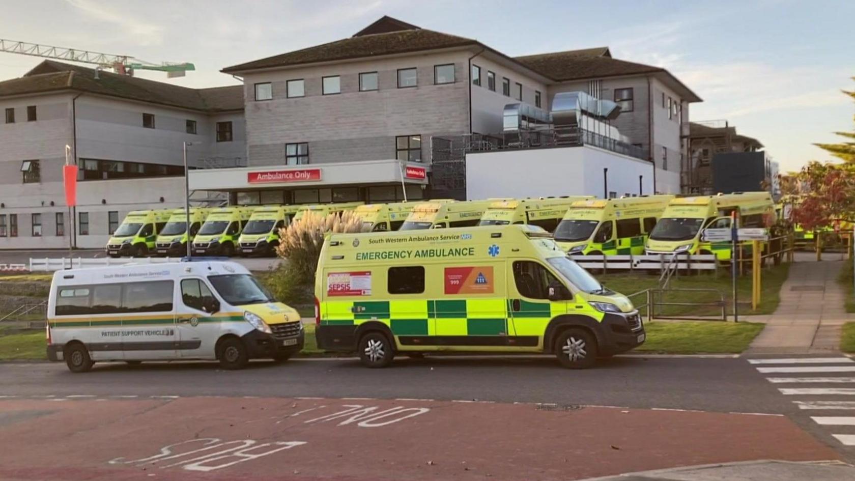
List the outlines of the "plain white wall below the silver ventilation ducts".
{"label": "plain white wall below the silver ventilation ducts", "polygon": [[[466,156],[466,198],[541,197],[559,195],[604,196],[603,169],[608,191],[617,196],[653,193],[651,163],[582,145],[552,149],[507,150]],[[537,181],[529,179],[537,172]]]}

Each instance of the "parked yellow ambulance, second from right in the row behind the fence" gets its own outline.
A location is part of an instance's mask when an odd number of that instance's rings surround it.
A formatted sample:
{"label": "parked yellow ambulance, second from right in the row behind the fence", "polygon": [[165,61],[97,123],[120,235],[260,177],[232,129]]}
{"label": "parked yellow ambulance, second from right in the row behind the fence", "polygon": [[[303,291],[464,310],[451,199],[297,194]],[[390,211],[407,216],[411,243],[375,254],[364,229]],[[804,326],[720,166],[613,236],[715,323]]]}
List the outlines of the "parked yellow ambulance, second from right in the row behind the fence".
{"label": "parked yellow ambulance, second from right in the row behind the fence", "polygon": [[643,254],[647,235],[673,195],[579,200],[570,205],[554,239],[569,254]]}

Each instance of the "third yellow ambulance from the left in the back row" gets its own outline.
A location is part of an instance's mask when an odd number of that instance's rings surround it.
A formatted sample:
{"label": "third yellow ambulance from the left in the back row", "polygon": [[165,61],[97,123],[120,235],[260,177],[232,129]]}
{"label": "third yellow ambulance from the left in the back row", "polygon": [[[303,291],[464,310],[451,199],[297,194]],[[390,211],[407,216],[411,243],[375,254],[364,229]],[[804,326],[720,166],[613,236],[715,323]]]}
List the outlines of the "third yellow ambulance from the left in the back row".
{"label": "third yellow ambulance from the left in the back row", "polygon": [[202,229],[193,239],[193,255],[233,256],[244,226],[252,216],[252,207],[218,207],[208,214]]}

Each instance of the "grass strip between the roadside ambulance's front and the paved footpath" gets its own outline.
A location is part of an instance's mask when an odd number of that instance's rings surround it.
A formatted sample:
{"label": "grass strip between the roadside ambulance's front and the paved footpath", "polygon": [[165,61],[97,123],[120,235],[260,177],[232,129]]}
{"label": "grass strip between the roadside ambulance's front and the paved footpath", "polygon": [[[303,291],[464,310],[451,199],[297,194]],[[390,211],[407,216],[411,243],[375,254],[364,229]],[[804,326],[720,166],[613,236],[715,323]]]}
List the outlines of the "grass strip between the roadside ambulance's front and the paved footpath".
{"label": "grass strip between the roadside ambulance's front and the paved footpath", "polygon": [[647,340],[635,350],[671,354],[741,353],[764,327],[765,324],[759,323],[716,321],[652,322],[645,324]]}

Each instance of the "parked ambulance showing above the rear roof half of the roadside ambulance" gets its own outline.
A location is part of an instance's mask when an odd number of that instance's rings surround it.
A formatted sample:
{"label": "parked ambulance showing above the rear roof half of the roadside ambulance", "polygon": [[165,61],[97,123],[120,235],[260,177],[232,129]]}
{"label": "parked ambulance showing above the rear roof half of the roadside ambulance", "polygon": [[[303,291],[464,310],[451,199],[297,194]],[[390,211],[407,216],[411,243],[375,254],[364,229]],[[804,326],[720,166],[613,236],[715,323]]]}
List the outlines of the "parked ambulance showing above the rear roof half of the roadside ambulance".
{"label": "parked ambulance showing above the rear roof half of the roadside ambulance", "polygon": [[413,207],[399,230],[475,227],[481,216],[497,200],[430,200]]}

